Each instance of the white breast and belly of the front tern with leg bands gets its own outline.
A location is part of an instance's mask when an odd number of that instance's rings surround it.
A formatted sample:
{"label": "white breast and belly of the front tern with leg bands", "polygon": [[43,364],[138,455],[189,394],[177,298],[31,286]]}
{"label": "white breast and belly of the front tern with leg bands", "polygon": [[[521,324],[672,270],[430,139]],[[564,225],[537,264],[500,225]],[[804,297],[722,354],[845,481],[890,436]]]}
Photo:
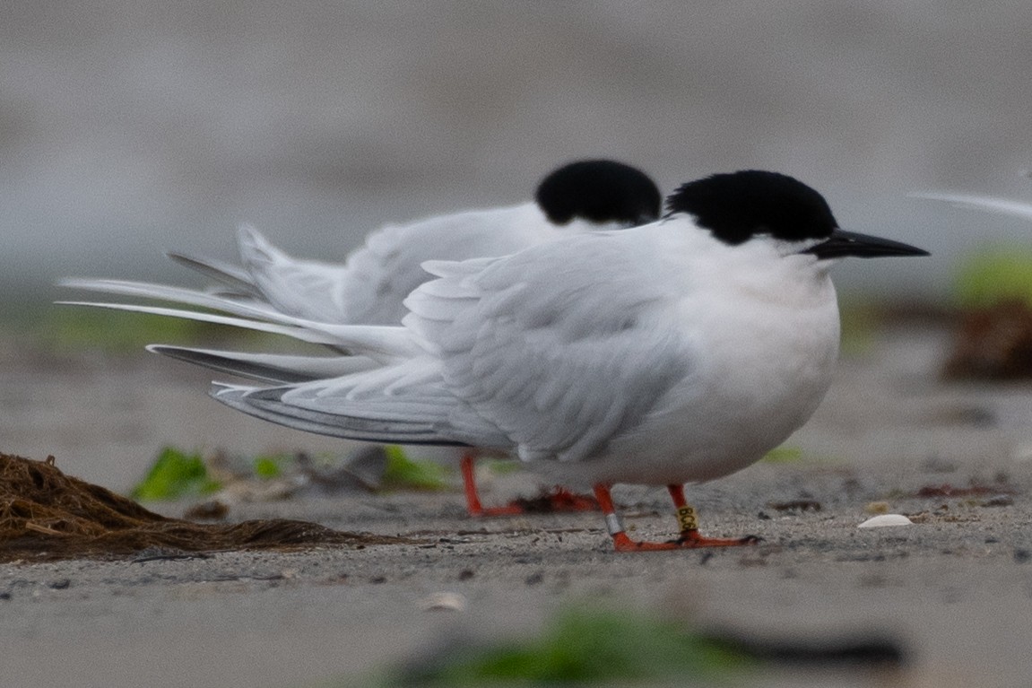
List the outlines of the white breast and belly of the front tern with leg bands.
{"label": "white breast and belly of the front tern with leg bands", "polygon": [[806,423],[828,392],[839,343],[830,282],[828,289],[830,296],[806,308],[789,304],[772,314],[769,303],[757,303],[703,323],[691,374],[640,424],[593,458],[534,469],[582,487],[698,482],[751,465]]}

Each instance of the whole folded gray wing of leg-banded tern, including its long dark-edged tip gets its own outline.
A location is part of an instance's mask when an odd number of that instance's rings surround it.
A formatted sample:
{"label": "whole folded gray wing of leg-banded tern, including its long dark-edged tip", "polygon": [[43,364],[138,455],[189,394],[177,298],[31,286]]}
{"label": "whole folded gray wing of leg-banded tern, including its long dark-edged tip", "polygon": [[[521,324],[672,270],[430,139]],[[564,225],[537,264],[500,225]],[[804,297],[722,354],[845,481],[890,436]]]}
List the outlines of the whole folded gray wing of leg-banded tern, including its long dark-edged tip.
{"label": "whole folded gray wing of leg-banded tern, including its long dark-edged tip", "polygon": [[588,458],[690,372],[671,320],[674,295],[628,231],[430,263],[441,279],[407,300],[405,320],[425,354],[335,379],[213,394],[340,437]]}

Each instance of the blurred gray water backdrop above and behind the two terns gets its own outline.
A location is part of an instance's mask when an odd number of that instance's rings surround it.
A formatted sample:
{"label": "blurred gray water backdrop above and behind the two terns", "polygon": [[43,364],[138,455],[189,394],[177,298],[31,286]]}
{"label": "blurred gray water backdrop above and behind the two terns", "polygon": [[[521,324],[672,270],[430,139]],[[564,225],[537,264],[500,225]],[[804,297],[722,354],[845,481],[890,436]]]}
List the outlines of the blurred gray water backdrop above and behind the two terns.
{"label": "blurred gray water backdrop above and behind the two terns", "polygon": [[11,0],[0,21],[0,287],[189,281],[247,220],[343,257],[384,222],[528,198],[611,156],[665,191],[766,167],[843,226],[932,259],[854,261],[840,287],[935,299],[1019,220],[908,198],[1032,199],[1021,0],[159,2]]}

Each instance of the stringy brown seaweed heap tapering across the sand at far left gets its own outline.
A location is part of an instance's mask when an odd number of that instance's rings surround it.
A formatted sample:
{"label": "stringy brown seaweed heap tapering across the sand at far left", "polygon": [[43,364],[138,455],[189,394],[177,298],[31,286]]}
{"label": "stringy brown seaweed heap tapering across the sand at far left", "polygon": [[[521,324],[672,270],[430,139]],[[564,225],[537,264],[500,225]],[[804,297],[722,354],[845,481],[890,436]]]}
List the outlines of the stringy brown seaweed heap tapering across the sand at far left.
{"label": "stringy brown seaweed heap tapering across the sand at far left", "polygon": [[148,548],[202,553],[415,542],[285,519],[229,525],[169,519],[65,475],[54,457],[0,454],[0,562],[118,558]]}

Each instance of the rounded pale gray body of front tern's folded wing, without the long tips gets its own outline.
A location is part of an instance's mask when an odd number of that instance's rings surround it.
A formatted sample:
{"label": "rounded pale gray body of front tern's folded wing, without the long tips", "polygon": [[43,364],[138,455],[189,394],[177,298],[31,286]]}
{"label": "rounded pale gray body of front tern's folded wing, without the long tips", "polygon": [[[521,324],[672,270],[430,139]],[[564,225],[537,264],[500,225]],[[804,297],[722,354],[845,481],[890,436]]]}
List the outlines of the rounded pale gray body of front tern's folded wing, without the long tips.
{"label": "rounded pale gray body of front tern's folded wing, without the long tips", "polygon": [[636,242],[635,230],[600,232],[428,264],[441,279],[407,300],[406,324],[449,390],[523,459],[587,458],[689,372],[675,294]]}

